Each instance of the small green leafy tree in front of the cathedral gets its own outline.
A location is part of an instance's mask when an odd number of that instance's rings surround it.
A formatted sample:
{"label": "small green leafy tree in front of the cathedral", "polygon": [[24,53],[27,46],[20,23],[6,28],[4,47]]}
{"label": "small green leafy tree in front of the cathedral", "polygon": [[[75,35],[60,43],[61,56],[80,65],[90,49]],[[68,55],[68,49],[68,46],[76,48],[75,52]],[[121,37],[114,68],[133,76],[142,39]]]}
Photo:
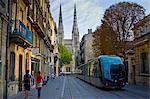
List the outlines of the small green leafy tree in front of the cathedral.
{"label": "small green leafy tree in front of the cathedral", "polygon": [[70,64],[70,61],[72,61],[71,52],[64,45],[58,45],[58,47],[60,50],[60,66]]}

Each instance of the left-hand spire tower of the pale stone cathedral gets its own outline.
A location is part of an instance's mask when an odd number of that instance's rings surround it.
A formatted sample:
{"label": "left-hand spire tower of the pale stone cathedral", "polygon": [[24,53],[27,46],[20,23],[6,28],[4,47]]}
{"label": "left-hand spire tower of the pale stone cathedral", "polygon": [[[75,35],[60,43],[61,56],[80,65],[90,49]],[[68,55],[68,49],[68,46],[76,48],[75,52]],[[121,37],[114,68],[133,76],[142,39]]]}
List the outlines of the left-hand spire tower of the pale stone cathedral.
{"label": "left-hand spire tower of the pale stone cathedral", "polygon": [[60,4],[59,23],[58,23],[58,44],[64,44],[64,28],[63,28],[61,4]]}

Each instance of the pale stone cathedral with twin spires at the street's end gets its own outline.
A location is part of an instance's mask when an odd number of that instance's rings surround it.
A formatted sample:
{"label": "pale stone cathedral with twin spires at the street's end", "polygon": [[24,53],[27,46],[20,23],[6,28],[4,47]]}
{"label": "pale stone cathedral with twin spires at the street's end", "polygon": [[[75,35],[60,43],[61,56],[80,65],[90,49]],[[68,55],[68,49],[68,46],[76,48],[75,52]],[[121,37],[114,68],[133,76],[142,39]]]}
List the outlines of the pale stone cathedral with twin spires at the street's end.
{"label": "pale stone cathedral with twin spires at the street's end", "polygon": [[72,53],[72,62],[69,65],[64,66],[62,68],[63,69],[62,71],[74,72],[75,71],[75,58],[79,50],[79,30],[78,30],[78,24],[77,24],[76,5],[74,5],[72,39],[64,39],[62,8],[60,5],[59,24],[58,24],[58,43],[65,45],[65,47],[67,47],[68,50]]}

